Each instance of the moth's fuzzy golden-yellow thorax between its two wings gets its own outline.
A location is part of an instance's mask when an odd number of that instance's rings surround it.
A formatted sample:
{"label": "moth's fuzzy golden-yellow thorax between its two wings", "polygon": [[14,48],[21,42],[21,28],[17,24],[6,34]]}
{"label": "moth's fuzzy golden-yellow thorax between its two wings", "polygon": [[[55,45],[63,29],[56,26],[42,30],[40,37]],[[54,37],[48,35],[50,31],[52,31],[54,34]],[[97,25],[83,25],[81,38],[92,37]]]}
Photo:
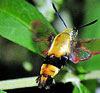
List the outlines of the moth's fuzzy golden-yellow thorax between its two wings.
{"label": "moth's fuzzy golden-yellow thorax between its two wings", "polygon": [[71,53],[71,40],[72,40],[72,29],[65,29],[63,32],[58,34],[48,51],[48,56],[55,55],[61,57],[69,55]]}

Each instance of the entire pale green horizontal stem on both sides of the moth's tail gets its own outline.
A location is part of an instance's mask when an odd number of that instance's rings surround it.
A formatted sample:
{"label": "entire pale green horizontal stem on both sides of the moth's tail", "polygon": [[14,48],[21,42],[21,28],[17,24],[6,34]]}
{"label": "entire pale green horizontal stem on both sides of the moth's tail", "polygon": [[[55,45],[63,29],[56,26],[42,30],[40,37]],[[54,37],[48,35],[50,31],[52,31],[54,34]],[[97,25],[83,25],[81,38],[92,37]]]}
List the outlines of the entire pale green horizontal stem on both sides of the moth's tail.
{"label": "entire pale green horizontal stem on both sides of the moth's tail", "polygon": [[[70,75],[69,75],[70,74]],[[74,79],[78,79],[77,76],[74,76],[73,73],[66,73],[65,77],[61,81],[57,82],[73,82]],[[34,77],[27,77],[27,78],[19,78],[19,79],[12,79],[12,80],[3,80],[0,81],[0,89],[1,90],[9,90],[9,89],[17,89],[17,88],[25,88],[25,87],[34,87],[37,86],[36,83],[36,78],[37,76]],[[73,78],[73,80],[69,80]],[[100,79],[100,71],[91,71],[90,73],[87,74],[80,74],[79,79],[82,80],[89,80],[89,79]]]}

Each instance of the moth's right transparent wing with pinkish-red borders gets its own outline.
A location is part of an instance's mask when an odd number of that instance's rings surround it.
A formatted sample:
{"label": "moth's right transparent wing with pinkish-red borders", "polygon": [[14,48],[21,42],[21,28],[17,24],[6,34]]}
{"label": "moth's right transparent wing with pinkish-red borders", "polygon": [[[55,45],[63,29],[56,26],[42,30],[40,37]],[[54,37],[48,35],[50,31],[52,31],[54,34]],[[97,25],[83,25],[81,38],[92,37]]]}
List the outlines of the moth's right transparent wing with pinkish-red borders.
{"label": "moth's right transparent wing with pinkish-red borders", "polygon": [[73,41],[69,60],[73,63],[89,60],[93,55],[100,54],[100,39]]}

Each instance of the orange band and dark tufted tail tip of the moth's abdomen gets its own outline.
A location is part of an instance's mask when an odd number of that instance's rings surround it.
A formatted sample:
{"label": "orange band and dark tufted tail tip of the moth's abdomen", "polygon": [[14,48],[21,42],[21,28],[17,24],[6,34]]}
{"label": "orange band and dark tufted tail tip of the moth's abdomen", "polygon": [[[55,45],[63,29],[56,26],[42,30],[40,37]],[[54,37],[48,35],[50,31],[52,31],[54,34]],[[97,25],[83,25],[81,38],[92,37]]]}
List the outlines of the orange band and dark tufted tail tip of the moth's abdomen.
{"label": "orange band and dark tufted tail tip of the moth's abdomen", "polygon": [[59,72],[59,68],[50,65],[50,64],[43,64],[40,71],[40,76],[37,79],[37,83],[39,88],[46,88],[49,89],[51,85],[55,83],[53,77]]}

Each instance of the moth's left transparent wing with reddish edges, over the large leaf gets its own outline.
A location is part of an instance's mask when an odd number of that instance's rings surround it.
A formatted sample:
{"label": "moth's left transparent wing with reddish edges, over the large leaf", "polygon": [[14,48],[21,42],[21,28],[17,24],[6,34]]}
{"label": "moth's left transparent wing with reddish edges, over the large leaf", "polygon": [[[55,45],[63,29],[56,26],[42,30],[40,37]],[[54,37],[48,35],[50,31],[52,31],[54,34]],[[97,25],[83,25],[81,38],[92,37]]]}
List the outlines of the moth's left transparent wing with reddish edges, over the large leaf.
{"label": "moth's left transparent wing with reddish edges, over the large leaf", "polygon": [[51,32],[50,29],[48,29],[41,21],[32,21],[31,27],[32,37],[37,51],[41,55],[46,56],[55,34]]}

